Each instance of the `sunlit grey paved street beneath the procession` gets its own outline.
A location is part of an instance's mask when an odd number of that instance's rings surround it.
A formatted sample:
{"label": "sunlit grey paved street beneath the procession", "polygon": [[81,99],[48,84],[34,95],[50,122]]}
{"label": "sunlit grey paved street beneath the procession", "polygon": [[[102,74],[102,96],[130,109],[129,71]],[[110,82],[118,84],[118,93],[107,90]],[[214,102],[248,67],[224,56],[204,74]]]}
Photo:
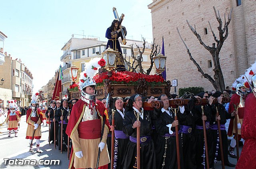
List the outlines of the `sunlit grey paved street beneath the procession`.
{"label": "sunlit grey paved street beneath the procession", "polygon": [[[62,154],[57,149],[54,149],[54,144],[48,144],[48,127],[41,127],[42,129],[42,138],[40,139],[40,147],[43,153],[30,153],[28,140],[26,137],[26,116],[22,116],[20,122],[20,129],[18,131],[18,137],[14,137],[14,133],[11,133],[11,137],[8,136],[7,127],[4,125],[0,128],[0,168],[1,169],[67,169],[68,168],[68,158],[67,152],[64,151]],[[36,148],[34,143],[34,150]],[[241,147],[240,147],[241,151]],[[9,159],[35,159],[39,161],[40,159],[60,159],[60,165],[4,165],[4,158]],[[236,159],[229,158],[230,163],[236,164]],[[8,163],[8,162],[7,162]],[[221,163],[218,161],[214,165],[215,169],[221,169]],[[225,166],[225,169],[234,169],[232,167]]]}

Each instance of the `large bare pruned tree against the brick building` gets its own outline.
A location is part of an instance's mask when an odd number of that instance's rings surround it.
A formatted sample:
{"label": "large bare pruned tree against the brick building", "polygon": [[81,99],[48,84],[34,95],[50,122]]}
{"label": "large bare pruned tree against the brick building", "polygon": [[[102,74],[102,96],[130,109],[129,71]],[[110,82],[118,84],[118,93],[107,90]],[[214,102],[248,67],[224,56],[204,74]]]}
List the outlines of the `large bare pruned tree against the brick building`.
{"label": "large bare pruned tree against the brick building", "polygon": [[[228,25],[230,24],[230,21],[231,21],[231,14],[232,14],[232,10],[233,8],[230,10],[230,13],[228,15],[228,21],[226,22],[226,15],[224,14],[224,28],[222,28],[222,20],[220,18],[220,12],[218,11],[218,15],[217,15],[217,12],[216,12],[216,9],[215,7],[213,6],[213,9],[214,9],[214,12],[215,12],[215,16],[216,16],[216,19],[219,23],[219,26],[218,26],[218,31],[219,31],[219,40],[217,39],[217,37],[215,36],[213,30],[212,30],[212,27],[211,27],[211,24],[210,22],[208,21],[209,23],[209,26],[210,26],[210,29],[211,29],[211,32],[212,32],[212,36],[214,38],[214,41],[217,42],[217,46],[215,43],[212,43],[212,47],[210,46],[206,46],[206,44],[204,44],[204,42],[202,41],[200,35],[196,32],[196,25],[194,25],[194,28],[192,26],[190,26],[190,24],[188,23],[188,20],[187,21],[187,24],[190,28],[190,30],[193,32],[193,34],[196,36],[196,38],[198,39],[198,41],[200,42],[200,44],[202,46],[204,46],[204,48],[206,50],[208,50],[210,52],[210,54],[212,55],[212,60],[213,60],[213,63],[214,63],[214,76],[213,78],[208,75],[208,74],[205,74],[204,71],[202,70],[202,68],[199,66],[199,64],[197,64],[196,60],[194,60],[194,58],[192,57],[188,47],[186,46],[184,40],[182,39],[181,35],[180,35],[180,32],[177,28],[177,31],[178,31],[178,34],[182,40],[182,42],[184,43],[186,49],[187,49],[187,52],[188,52],[188,55],[189,55],[189,58],[190,60],[192,60],[192,62],[196,65],[197,69],[198,69],[198,72],[200,72],[204,78],[208,79],[213,87],[218,90],[218,91],[224,91],[225,89],[225,83],[224,83],[224,78],[223,78],[223,74],[222,74],[222,70],[220,68],[220,58],[219,58],[219,54],[220,54],[220,50],[223,46],[223,43],[224,41],[228,38]],[[225,33],[226,32],[226,33]],[[225,35],[224,35],[225,33]]]}

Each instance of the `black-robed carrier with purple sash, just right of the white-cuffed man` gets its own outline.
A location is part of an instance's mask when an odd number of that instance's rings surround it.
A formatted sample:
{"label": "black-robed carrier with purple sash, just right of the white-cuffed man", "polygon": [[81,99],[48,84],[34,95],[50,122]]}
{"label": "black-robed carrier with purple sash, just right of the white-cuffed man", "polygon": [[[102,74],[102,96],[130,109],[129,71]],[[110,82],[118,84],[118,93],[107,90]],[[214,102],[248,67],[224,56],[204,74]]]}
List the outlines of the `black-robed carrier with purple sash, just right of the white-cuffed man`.
{"label": "black-robed carrier with purple sash, just right of the white-cuffed man", "polygon": [[178,120],[182,139],[184,169],[196,169],[196,138],[194,136],[194,115],[191,110],[194,107],[196,98],[192,97],[188,105],[180,107]]}

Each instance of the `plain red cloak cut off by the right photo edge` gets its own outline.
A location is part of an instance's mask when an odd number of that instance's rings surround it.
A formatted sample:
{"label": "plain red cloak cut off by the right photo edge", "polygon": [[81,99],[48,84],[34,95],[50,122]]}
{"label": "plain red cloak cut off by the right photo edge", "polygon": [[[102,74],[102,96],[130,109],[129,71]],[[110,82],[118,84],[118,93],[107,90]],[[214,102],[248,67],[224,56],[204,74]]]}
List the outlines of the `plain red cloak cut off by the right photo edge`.
{"label": "plain red cloak cut off by the right photo edge", "polygon": [[244,106],[242,138],[245,139],[236,169],[256,169],[256,97],[250,93]]}

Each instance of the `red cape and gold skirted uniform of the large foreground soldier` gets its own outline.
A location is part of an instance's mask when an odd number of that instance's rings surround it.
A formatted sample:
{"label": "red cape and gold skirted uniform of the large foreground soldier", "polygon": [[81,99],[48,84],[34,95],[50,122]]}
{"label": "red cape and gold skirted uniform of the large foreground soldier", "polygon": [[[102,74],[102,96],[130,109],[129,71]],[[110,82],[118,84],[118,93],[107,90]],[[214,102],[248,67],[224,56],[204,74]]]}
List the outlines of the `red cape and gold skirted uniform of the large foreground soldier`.
{"label": "red cape and gold skirted uniform of the large foreground soldier", "polygon": [[[91,106],[82,99],[79,99],[72,107],[66,128],[67,135],[72,139],[69,169],[96,168],[98,145],[100,142],[106,144],[109,130],[108,120],[105,121],[104,133],[102,141],[100,141],[105,107],[98,99],[96,99],[96,103],[91,103],[93,111],[90,109]],[[76,157],[75,153],[78,151],[82,151],[82,158]],[[108,149],[105,146],[100,153],[99,166],[102,167],[99,168],[107,168],[106,164],[108,163],[110,163],[110,160]]]}

